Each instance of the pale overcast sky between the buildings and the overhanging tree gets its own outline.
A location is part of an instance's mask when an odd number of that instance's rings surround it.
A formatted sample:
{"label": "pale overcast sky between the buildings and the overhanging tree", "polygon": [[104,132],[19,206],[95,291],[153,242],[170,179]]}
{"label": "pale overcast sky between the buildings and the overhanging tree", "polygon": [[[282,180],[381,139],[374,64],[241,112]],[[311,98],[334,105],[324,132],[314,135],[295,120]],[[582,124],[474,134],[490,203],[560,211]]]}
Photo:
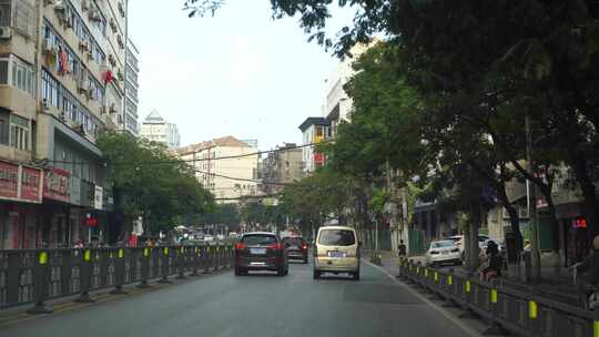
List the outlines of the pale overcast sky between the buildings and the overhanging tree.
{"label": "pale overcast sky between the buildings and the overhanging tree", "polygon": [[[261,150],[300,143],[297,126],[323,115],[325,79],[338,60],[300,28],[273,20],[268,0],[229,0],[214,17],[187,18],[184,0],[130,0],[140,50],[140,121],[156,109],[187,145],[233,135]],[[332,31],[349,22],[338,10]]]}

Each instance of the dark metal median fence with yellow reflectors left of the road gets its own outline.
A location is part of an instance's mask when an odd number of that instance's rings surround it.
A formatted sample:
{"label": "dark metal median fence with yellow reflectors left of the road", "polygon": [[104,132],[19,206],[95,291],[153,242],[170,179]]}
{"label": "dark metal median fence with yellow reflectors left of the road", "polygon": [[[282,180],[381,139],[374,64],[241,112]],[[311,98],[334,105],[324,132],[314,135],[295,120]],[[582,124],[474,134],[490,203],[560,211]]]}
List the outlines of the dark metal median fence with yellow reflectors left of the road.
{"label": "dark metal median fence with yellow reflectors left of the road", "polygon": [[158,247],[0,249],[0,278],[3,279],[0,294],[4,294],[0,296],[0,313],[33,304],[27,314],[50,314],[49,300],[93,303],[90,292],[124,295],[125,285],[149,288],[151,282],[172,283],[170,276],[181,279],[197,276],[201,270],[224,270],[233,259],[229,242]]}

